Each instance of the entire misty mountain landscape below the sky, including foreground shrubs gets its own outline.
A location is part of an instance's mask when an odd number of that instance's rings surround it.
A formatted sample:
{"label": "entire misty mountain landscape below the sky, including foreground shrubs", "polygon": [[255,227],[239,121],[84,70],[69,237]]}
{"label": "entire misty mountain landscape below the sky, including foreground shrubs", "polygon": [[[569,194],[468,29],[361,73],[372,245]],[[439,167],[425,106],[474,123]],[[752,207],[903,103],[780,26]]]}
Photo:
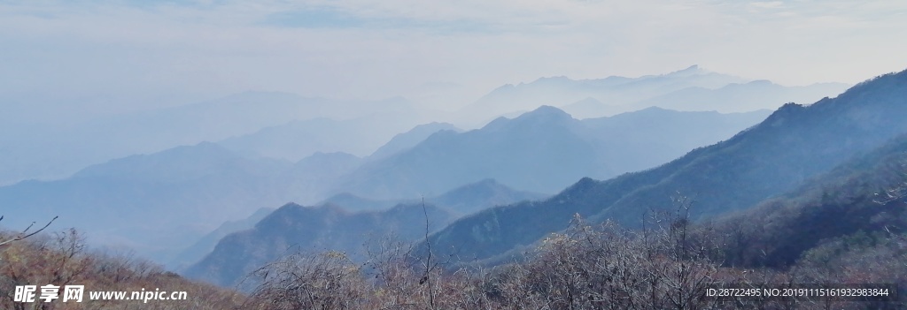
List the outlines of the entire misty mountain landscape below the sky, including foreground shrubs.
{"label": "entire misty mountain landscape below the sky, including foreground shrubs", "polygon": [[435,98],[247,91],[0,133],[0,308],[907,307],[907,70]]}

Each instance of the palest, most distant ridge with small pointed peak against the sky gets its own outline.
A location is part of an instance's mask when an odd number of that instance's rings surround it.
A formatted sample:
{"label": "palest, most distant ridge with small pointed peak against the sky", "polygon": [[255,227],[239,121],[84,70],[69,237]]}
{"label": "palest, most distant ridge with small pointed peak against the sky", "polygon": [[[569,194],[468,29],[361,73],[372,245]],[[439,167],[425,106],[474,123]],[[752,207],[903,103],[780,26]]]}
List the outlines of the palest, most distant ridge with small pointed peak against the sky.
{"label": "palest, most distant ridge with small pointed peak against the sky", "polygon": [[766,80],[712,72],[697,65],[667,74],[639,78],[610,76],[571,80],[551,77],[494,89],[462,108],[461,118],[496,117],[547,105],[577,118],[605,117],[640,108],[682,111],[748,112],[775,109],[788,102],[808,103],[840,94],[848,85],[824,83],[780,86]]}

